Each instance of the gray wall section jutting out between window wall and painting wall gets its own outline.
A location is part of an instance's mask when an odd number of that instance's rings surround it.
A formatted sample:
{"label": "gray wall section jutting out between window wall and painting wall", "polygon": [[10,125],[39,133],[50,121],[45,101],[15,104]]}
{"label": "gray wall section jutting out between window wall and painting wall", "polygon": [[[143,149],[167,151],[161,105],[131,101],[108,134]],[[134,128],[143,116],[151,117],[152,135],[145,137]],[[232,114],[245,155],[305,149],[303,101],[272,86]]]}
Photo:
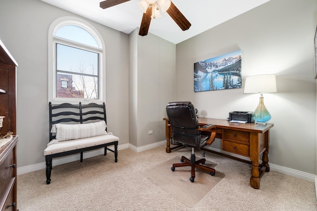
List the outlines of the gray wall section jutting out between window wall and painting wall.
{"label": "gray wall section jutting out between window wall and painting wall", "polygon": [[[165,138],[165,107],[175,99],[176,45],[155,35],[130,34],[130,143],[136,147]],[[149,134],[152,130],[153,134]]]}

